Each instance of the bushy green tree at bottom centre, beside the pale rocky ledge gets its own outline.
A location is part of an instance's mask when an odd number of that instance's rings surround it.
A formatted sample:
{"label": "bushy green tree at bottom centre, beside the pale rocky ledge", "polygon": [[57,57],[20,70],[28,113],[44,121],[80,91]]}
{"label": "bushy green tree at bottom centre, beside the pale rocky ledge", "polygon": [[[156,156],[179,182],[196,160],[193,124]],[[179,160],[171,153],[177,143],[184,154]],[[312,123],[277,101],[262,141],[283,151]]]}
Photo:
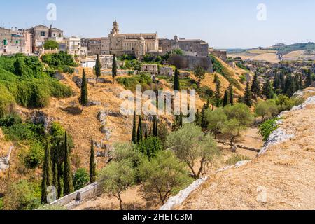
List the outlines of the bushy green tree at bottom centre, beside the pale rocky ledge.
{"label": "bushy green tree at bottom centre, beside the pale rocky ledge", "polygon": [[188,177],[185,163],[172,151],[161,151],[152,160],[144,160],[139,168],[144,181],[142,190],[148,198],[165,204],[169,196],[186,188],[193,180]]}

